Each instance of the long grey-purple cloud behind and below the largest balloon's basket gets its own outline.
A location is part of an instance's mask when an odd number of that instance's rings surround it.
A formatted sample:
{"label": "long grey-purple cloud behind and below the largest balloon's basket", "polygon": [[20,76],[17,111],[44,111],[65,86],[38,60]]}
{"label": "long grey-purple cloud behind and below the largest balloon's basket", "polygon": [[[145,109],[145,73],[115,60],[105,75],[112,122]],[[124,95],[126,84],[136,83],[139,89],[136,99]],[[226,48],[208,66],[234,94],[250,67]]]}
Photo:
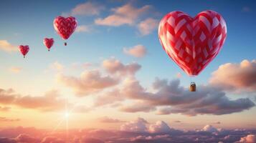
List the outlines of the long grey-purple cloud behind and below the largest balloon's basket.
{"label": "long grey-purple cloud behind and below the largest balloon's basket", "polygon": [[212,86],[198,86],[197,92],[189,92],[179,85],[179,79],[170,82],[167,79],[156,79],[152,87],[156,92],[148,92],[136,79],[129,78],[125,80],[120,91],[127,99],[141,100],[148,104],[145,112],[148,112],[150,107],[163,107],[159,109],[158,114],[219,115],[255,107],[248,98],[231,100],[224,92]]}

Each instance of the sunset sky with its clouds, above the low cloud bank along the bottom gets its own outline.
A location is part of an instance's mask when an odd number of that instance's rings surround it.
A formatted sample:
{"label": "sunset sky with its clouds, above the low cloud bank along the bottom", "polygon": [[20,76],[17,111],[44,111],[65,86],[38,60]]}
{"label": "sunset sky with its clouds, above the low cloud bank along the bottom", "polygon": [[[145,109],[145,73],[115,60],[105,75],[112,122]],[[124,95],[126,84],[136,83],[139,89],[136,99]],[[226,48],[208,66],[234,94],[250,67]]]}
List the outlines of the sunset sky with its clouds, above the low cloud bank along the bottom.
{"label": "sunset sky with its clouds, above the low cloud bank along the bottom", "polygon": [[[143,128],[142,119],[151,133],[158,126],[256,127],[255,1],[0,3],[0,128],[131,132]],[[207,68],[189,77],[163,50],[158,23],[171,11],[194,17],[207,9],[223,16],[227,39]],[[67,46],[54,30],[57,16],[77,19]],[[45,37],[54,39],[50,51]],[[26,58],[22,44],[30,48]],[[189,92],[190,82],[197,92]]]}

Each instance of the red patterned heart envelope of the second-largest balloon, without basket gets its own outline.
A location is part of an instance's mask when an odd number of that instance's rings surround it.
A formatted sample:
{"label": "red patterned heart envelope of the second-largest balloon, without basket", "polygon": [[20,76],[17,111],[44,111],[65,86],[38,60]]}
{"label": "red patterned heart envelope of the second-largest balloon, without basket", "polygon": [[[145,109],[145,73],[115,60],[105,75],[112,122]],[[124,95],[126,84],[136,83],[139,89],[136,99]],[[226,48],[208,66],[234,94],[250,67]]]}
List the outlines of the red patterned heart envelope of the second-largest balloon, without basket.
{"label": "red patterned heart envelope of the second-largest balloon, without basket", "polygon": [[75,17],[62,17],[57,16],[53,21],[54,29],[62,37],[62,39],[68,39],[70,35],[75,31],[77,27],[77,21]]}

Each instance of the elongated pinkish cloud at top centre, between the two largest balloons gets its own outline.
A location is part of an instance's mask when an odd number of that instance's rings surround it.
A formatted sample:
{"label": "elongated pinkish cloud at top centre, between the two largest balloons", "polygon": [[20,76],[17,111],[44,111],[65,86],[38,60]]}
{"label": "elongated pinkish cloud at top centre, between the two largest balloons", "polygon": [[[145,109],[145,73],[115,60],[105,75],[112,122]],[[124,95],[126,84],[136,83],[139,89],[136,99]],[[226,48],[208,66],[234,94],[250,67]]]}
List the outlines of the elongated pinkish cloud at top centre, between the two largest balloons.
{"label": "elongated pinkish cloud at top centre, between the two largest balloons", "polygon": [[133,7],[131,4],[125,4],[112,9],[113,14],[104,19],[95,19],[95,24],[106,26],[121,26],[124,24],[133,25],[144,14],[150,11],[151,6],[146,5],[141,8]]}

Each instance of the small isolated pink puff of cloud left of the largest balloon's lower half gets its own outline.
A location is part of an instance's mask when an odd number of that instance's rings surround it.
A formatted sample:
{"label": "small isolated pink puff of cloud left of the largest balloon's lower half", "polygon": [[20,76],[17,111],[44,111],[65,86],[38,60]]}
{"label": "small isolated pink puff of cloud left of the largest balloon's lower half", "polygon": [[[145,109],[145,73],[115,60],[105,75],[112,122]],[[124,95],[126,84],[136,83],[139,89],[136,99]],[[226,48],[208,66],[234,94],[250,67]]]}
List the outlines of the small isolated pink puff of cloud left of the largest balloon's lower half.
{"label": "small isolated pink puff of cloud left of the largest balloon's lower half", "polygon": [[141,44],[138,44],[138,45],[133,46],[133,47],[128,48],[128,49],[123,48],[123,52],[125,54],[135,56],[137,58],[141,58],[141,57],[146,55],[147,50],[146,50],[145,46],[143,46]]}

